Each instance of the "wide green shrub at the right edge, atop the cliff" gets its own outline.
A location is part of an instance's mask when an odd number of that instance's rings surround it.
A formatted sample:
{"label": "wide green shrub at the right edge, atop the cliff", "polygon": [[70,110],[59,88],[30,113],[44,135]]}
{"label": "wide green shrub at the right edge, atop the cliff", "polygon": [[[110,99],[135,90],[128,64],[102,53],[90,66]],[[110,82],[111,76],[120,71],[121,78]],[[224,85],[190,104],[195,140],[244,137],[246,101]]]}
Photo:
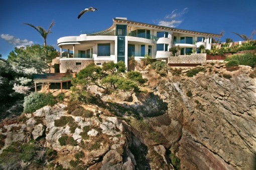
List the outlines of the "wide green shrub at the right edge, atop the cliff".
{"label": "wide green shrub at the right edge, atop the cliff", "polygon": [[238,55],[231,55],[224,59],[224,61],[238,60],[240,65],[248,65],[254,67],[256,64],[256,55],[251,52],[246,52]]}

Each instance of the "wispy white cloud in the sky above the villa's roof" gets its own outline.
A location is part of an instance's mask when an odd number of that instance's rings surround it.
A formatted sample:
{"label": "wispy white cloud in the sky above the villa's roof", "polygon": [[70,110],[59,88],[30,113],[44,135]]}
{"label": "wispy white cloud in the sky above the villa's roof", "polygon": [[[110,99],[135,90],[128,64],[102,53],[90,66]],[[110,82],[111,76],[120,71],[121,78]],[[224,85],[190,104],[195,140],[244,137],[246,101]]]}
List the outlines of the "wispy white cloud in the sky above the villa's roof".
{"label": "wispy white cloud in the sky above the villa's roof", "polygon": [[182,16],[188,12],[188,8],[184,8],[182,11],[178,12],[178,9],[174,9],[171,14],[165,16],[163,20],[158,21],[158,25],[176,27],[179,26],[183,19]]}

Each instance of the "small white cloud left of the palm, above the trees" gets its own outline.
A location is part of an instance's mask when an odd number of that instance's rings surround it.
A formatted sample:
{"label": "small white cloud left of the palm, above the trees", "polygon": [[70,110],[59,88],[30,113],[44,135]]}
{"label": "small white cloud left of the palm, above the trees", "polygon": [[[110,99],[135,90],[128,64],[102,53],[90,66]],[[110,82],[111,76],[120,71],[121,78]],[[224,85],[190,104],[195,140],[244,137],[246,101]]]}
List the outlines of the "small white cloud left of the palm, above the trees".
{"label": "small white cloud left of the palm, above the trees", "polygon": [[31,45],[34,42],[33,41],[29,41],[28,39],[20,39],[18,37],[15,37],[13,35],[10,34],[1,34],[1,38],[5,39],[8,43],[11,43],[14,46],[17,47],[21,47],[21,46],[25,46],[25,45]]}

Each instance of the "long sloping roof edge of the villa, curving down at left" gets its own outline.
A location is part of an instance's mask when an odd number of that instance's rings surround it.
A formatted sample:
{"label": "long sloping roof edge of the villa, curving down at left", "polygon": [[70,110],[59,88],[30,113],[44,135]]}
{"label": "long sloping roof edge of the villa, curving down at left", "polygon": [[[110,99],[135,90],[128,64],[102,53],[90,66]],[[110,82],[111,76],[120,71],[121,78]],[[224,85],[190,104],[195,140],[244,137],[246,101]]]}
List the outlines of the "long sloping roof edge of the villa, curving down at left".
{"label": "long sloping roof edge of the villa, curving down at left", "polygon": [[108,27],[102,31],[98,31],[98,32],[90,33],[90,34],[91,35],[99,35],[99,34],[111,32],[115,28],[115,24],[118,24],[118,23],[121,23],[121,24],[126,23],[127,25],[134,25],[134,26],[143,26],[143,27],[150,28],[150,29],[169,30],[169,31],[177,32],[177,33],[192,33],[192,34],[197,34],[197,35],[202,35],[202,36],[215,36],[215,37],[222,36],[221,34],[216,34],[216,33],[178,29],[178,28],[173,28],[173,27],[168,27],[168,26],[161,26],[161,25],[137,22],[137,21],[133,21],[133,20],[126,20],[126,19],[120,19],[120,18],[113,18],[113,24],[110,27]]}

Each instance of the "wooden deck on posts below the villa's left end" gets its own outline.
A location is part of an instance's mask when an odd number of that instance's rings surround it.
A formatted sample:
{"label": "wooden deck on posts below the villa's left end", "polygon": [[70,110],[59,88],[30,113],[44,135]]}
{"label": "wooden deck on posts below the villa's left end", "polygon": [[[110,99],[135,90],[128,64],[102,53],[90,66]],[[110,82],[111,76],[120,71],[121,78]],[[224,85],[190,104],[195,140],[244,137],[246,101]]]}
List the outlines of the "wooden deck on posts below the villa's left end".
{"label": "wooden deck on posts below the villa's left end", "polygon": [[54,82],[54,86],[56,86],[56,82],[60,82],[60,88],[62,92],[62,87],[63,87],[63,82],[67,83],[67,88],[68,88],[68,81],[71,81],[72,77],[74,77],[74,74],[70,73],[58,73],[58,74],[51,74],[51,75],[46,75],[46,74],[37,74],[34,75],[34,83],[35,83],[35,91],[37,91],[37,83],[42,82],[43,87],[45,83],[48,84],[48,92],[50,92],[50,83]]}

